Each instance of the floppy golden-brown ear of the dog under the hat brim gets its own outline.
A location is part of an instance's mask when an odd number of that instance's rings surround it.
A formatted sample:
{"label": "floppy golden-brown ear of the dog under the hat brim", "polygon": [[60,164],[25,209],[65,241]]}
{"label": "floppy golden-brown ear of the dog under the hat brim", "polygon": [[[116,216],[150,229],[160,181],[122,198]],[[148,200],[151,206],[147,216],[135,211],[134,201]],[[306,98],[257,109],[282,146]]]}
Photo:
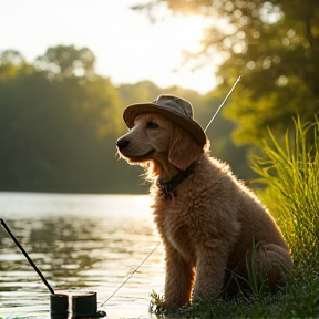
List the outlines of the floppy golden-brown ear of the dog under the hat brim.
{"label": "floppy golden-brown ear of the dog under the hat brim", "polygon": [[204,150],[196,144],[194,138],[181,126],[175,125],[168,152],[168,161],[177,168],[185,171]]}

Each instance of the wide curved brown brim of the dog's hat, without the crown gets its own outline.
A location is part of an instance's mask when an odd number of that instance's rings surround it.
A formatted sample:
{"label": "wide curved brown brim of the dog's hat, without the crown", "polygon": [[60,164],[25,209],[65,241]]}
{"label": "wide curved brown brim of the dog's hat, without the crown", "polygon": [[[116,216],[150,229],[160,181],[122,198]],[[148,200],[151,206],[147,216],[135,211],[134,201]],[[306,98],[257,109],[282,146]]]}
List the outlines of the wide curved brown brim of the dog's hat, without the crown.
{"label": "wide curved brown brim of the dog's hat, without the crown", "polygon": [[136,116],[143,113],[156,113],[163,115],[186,130],[200,147],[206,144],[206,134],[196,121],[187,119],[172,110],[165,110],[163,106],[160,107],[155,103],[138,103],[127,106],[123,113],[123,120],[127,127],[132,128]]}

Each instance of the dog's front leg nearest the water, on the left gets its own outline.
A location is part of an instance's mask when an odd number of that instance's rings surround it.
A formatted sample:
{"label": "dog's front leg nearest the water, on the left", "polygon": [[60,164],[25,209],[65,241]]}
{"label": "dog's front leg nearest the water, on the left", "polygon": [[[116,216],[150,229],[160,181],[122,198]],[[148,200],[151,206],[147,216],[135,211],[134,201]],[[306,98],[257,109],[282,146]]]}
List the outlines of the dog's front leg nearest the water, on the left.
{"label": "dog's front leg nearest the water, on the left", "polygon": [[192,297],[195,269],[171,245],[166,245],[165,303],[163,309],[177,309]]}

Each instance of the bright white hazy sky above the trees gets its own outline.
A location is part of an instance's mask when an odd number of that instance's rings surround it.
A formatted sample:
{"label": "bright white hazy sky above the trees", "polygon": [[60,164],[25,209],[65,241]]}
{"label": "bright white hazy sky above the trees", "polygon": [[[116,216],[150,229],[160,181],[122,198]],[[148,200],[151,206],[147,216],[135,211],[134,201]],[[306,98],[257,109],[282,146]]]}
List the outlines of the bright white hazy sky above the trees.
{"label": "bright white hazy sky above the trees", "polygon": [[173,17],[152,23],[132,10],[147,0],[0,0],[0,51],[19,51],[28,62],[59,44],[89,48],[96,73],[114,85],[150,80],[207,93],[216,85],[215,65],[199,70],[184,62],[183,50],[200,47],[200,17]]}

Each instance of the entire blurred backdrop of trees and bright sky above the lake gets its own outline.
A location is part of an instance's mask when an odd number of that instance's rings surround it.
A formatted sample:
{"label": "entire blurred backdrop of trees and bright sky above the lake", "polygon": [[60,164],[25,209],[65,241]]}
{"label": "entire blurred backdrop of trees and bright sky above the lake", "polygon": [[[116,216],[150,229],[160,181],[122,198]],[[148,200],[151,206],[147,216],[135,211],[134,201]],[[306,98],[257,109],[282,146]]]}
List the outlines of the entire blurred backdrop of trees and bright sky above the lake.
{"label": "entire blurred backdrop of trees and bright sky above the lake", "polygon": [[[240,178],[319,110],[317,0],[0,0],[0,189],[146,193],[116,158],[130,103],[189,100]],[[310,141],[311,142],[311,141]],[[138,177],[140,176],[140,177]]]}

